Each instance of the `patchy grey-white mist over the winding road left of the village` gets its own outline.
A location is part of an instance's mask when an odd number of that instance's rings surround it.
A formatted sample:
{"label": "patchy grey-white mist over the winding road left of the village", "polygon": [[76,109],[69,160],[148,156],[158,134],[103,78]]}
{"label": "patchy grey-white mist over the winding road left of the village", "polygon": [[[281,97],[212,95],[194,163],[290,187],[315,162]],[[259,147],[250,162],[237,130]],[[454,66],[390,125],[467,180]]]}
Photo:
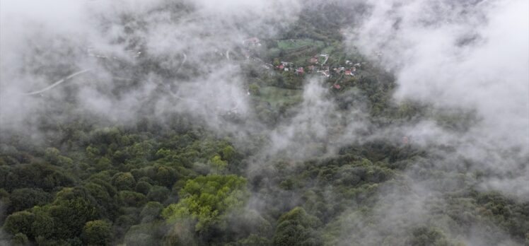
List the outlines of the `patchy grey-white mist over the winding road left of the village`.
{"label": "patchy grey-white mist over the winding road left of the village", "polygon": [[[246,61],[225,54],[236,56],[251,35],[274,35],[296,19],[299,6],[25,0],[2,2],[1,11],[2,128],[37,125],[50,109],[67,119],[60,112],[73,106],[121,124],[190,112],[221,129],[222,115],[249,113],[240,69]],[[86,69],[44,93],[23,95]]]}

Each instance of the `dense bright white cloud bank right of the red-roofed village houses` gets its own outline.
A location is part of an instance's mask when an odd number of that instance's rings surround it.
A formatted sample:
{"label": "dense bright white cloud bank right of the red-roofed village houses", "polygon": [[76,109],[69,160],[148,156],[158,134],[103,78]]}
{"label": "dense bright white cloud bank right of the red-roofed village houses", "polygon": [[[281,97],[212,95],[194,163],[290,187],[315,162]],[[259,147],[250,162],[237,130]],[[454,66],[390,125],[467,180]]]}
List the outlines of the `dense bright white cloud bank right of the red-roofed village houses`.
{"label": "dense bright white cloud bank right of the red-roofed village houses", "polygon": [[[529,154],[529,3],[370,3],[371,15],[349,43],[395,72],[395,98],[474,111],[479,119],[463,135],[426,122],[408,134],[455,146],[477,169],[498,170],[500,176],[518,170],[518,177],[498,178],[485,187],[510,192],[500,180],[529,180],[527,166],[519,163]],[[507,150],[516,151],[500,154]],[[527,192],[516,196],[529,199]]]}

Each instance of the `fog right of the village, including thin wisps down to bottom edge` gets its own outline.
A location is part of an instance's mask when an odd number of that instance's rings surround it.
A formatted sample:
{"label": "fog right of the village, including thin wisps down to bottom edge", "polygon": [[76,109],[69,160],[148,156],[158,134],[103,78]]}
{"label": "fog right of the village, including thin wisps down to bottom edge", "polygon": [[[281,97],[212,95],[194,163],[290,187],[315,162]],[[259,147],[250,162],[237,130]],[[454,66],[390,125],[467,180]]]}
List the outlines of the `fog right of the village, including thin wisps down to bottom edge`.
{"label": "fog right of the village, including thin wisps down to bottom edge", "polygon": [[[359,28],[351,28],[347,40],[374,62],[397,77],[395,100],[417,100],[437,108],[466,110],[476,123],[467,131],[453,131],[442,124],[422,120],[391,131],[404,131],[414,144],[437,148],[441,170],[458,170],[465,161],[471,172],[487,171],[490,177],[467,181],[482,190],[499,191],[519,201],[529,201],[529,16],[528,1],[371,1]],[[439,147],[450,146],[450,151]],[[431,160],[430,160],[431,161]],[[418,163],[417,166],[421,166]],[[442,182],[413,175],[410,190],[389,187],[382,192],[373,218],[345,219],[343,238],[364,235],[363,244],[379,244],[377,233],[395,227],[429,224],[452,231],[466,245],[516,245],[507,235],[483,240],[494,225],[473,224],[455,228],[450,221],[436,221],[443,193],[455,191]],[[431,183],[430,183],[431,182]],[[347,214],[347,213],[346,213]],[[352,216],[352,215],[347,215]],[[384,218],[384,219],[382,219]],[[388,220],[388,218],[390,218]],[[380,221],[378,221],[380,219]],[[371,224],[364,224],[371,221]],[[392,222],[399,222],[392,224]],[[487,228],[487,229],[484,229]],[[365,231],[364,231],[365,230]],[[470,230],[467,236],[462,231]],[[488,232],[487,232],[488,231]],[[374,241],[373,241],[374,240]],[[347,243],[344,243],[347,245]]]}

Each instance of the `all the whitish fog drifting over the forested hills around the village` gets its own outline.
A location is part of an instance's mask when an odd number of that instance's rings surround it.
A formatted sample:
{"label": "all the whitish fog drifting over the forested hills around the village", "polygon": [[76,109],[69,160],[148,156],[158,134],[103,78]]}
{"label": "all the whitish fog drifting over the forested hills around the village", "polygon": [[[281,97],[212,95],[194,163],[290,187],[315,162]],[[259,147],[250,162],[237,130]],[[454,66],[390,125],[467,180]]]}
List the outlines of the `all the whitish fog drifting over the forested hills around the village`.
{"label": "all the whitish fog drifting over the forested hills around the village", "polygon": [[[433,224],[467,245],[516,245],[496,225],[458,228],[435,219],[450,202],[444,194],[468,184],[529,201],[529,1],[332,1],[366,6],[354,13],[357,23],[344,26],[345,49],[358,50],[369,64],[395,76],[392,103],[428,106],[424,118],[383,127],[371,121],[363,95],[344,93],[356,101],[343,110],[318,76],[303,81],[301,102],[289,108],[289,117],[272,125],[257,117],[245,68],[270,61],[245,59],[238,47],[250,37],[277,37],[301,11],[317,9],[316,1],[0,4],[1,134],[25,132],[45,141],[43,120],[87,117],[108,126],[183,115],[230,136],[239,148],[265,139],[248,157],[250,179],[277,172],[269,165],[279,159],[296,165],[371,141],[398,145],[407,136],[412,148],[436,158],[414,160],[417,166],[403,171],[409,178],[398,182],[409,189],[384,185],[369,217],[346,210],[335,243],[379,245],[380,234],[397,237]],[[468,117],[470,126],[450,129],[436,118],[443,113]],[[426,166],[467,175],[421,177],[419,169]],[[477,177],[478,172],[489,175]],[[266,201],[264,192],[257,189],[249,209],[276,202]],[[490,231],[497,232],[496,241],[485,242]]]}

